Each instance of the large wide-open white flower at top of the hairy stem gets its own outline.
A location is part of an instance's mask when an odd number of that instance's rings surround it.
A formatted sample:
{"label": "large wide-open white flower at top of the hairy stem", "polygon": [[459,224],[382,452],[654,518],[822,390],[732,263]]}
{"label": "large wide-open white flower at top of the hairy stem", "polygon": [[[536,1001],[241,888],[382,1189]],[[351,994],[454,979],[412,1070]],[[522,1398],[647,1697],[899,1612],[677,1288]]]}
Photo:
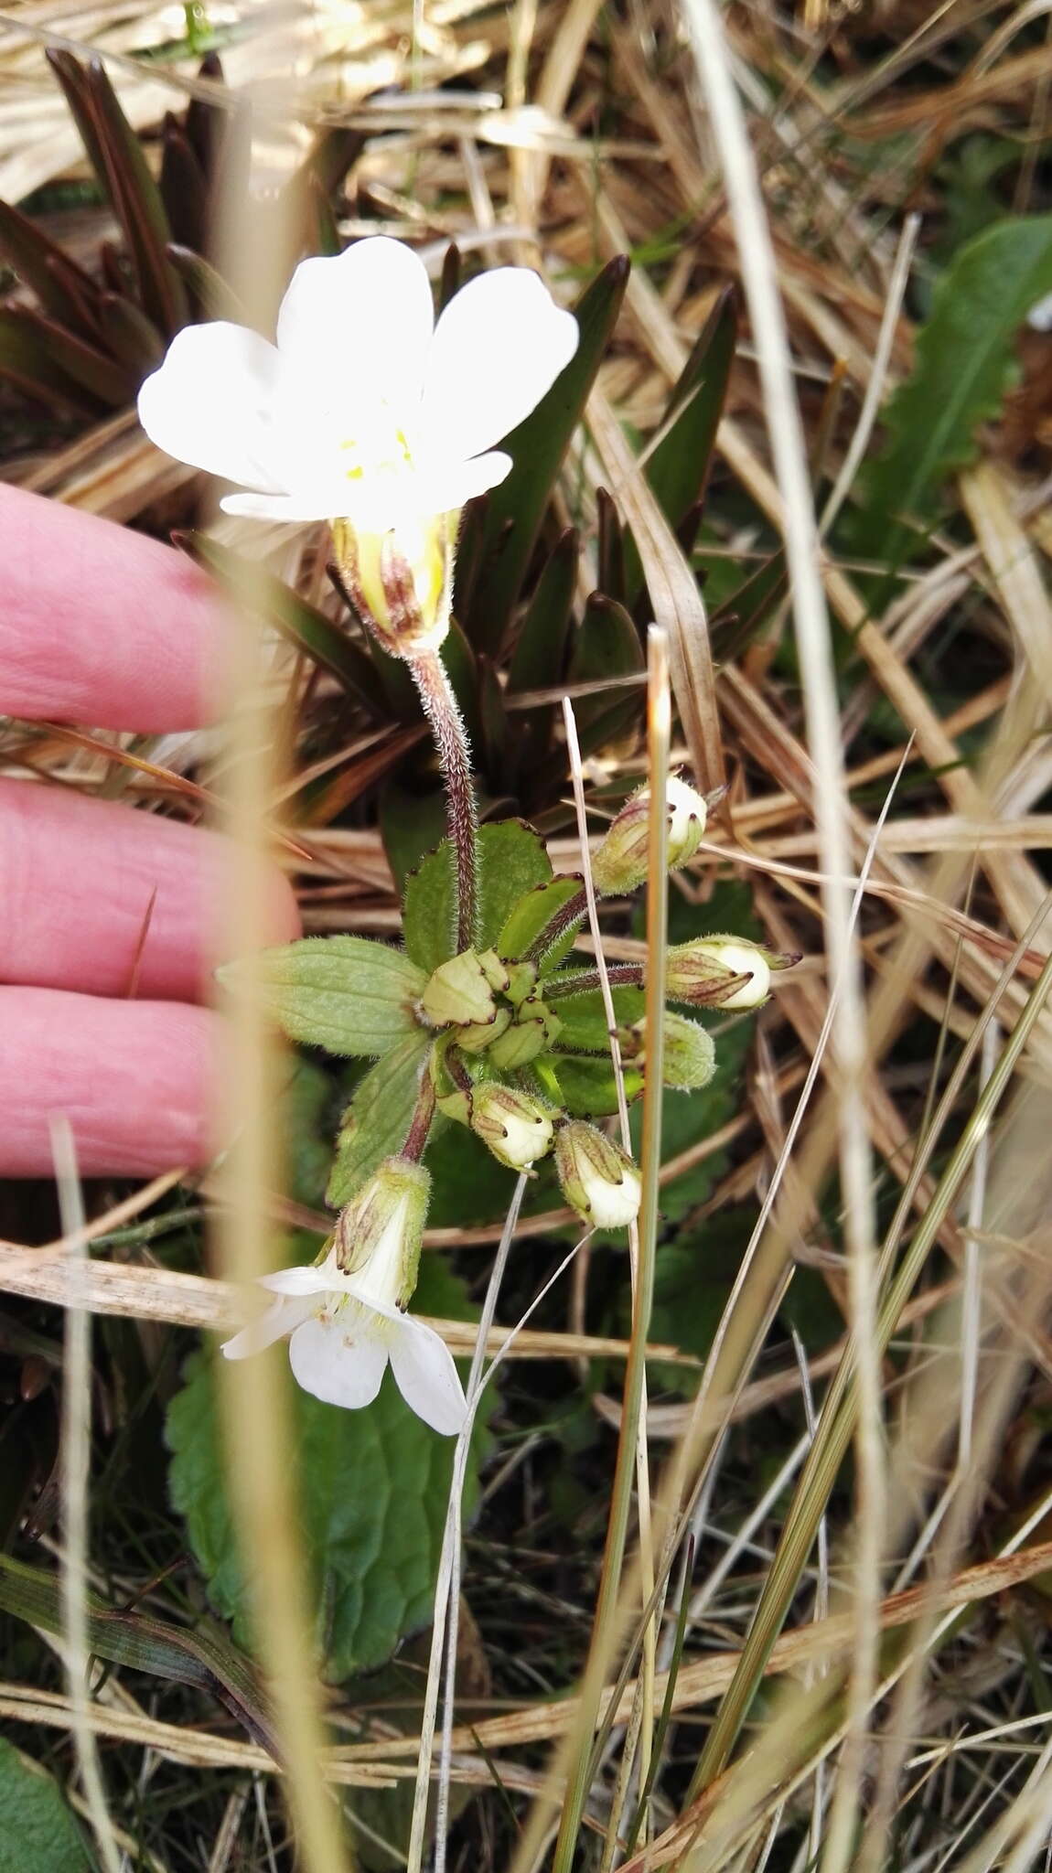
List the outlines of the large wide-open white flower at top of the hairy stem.
{"label": "large wide-open white flower at top of the hairy stem", "polygon": [[[423,262],[376,236],[303,260],[277,345],[226,320],[187,326],[139,391],[146,435],[247,493],[226,513],[348,521],[395,534],[421,611],[440,599],[434,519],[504,481],[500,442],[577,350],[577,320],[522,266],[468,281],[438,324]],[[376,577],[378,554],[367,554]]]}

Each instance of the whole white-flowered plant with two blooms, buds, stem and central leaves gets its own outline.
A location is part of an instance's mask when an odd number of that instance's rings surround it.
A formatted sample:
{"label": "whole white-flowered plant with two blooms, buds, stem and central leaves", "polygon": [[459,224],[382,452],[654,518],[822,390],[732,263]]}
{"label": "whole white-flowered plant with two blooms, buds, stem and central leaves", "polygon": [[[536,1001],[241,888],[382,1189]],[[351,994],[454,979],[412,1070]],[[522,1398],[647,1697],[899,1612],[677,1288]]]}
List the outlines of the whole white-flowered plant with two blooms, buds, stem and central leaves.
{"label": "whole white-flowered plant with two blooms, buds, stem and central leaves", "polygon": [[[496,444],[533,410],[577,343],[573,315],[526,268],[472,279],[434,320],[421,260],[374,238],[296,268],[275,343],[225,320],[189,326],[139,397],[159,448],[240,485],[223,496],[226,513],[329,524],[333,577],[363,627],[406,659],[436,734],[453,865],[444,871],[444,854],[432,854],[442,871],[434,903],[453,875],[457,953],[453,942],[436,951],[427,931],[421,966],[408,899],[406,953],[356,936],[270,953],[271,1011],[294,1040],[378,1058],[337,1146],[329,1201],[339,1219],[326,1249],[309,1268],[266,1276],[270,1309],[223,1350],[238,1360],[288,1337],[300,1384],[350,1408],[376,1397],[389,1365],[412,1410],[442,1435],[464,1427],[464,1392],[442,1337],[406,1313],[432,1122],[468,1126],[513,1171],[533,1174],[550,1158],[588,1229],[623,1229],[640,1206],[635,1163],[595,1120],[644,1084],[642,966],[616,970],[618,1088],[597,974],[565,965],[586,914],[584,884],[556,878],[528,828],[507,830],[517,848],[532,841],[539,882],[524,895],[498,888],[502,914],[481,933],[470,751],[434,654],[449,626],[460,509],[505,478],[511,457]],[[670,867],[696,854],[711,804],[668,775]],[[610,824],[593,856],[601,895],[644,882],[650,811],[642,787]],[[665,993],[687,1008],[758,1008],[771,970],[788,961],[738,936],[702,936],[668,951]],[[661,1053],[668,1086],[693,1090],[713,1075],[713,1038],[691,1015],[665,1013]],[[391,1099],[412,1113],[395,1128],[393,1156]]]}

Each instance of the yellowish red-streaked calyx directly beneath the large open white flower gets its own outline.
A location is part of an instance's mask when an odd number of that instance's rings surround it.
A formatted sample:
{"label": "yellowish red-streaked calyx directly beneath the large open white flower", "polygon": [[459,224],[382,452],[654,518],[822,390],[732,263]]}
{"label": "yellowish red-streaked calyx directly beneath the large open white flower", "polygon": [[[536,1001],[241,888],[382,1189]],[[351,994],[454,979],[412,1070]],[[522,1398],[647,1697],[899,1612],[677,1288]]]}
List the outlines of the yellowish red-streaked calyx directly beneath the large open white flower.
{"label": "yellowish red-streaked calyx directly beneath the large open white flower", "polygon": [[335,571],[363,626],[393,657],[434,650],[449,631],[453,543],[446,515],[367,532],[331,523]]}

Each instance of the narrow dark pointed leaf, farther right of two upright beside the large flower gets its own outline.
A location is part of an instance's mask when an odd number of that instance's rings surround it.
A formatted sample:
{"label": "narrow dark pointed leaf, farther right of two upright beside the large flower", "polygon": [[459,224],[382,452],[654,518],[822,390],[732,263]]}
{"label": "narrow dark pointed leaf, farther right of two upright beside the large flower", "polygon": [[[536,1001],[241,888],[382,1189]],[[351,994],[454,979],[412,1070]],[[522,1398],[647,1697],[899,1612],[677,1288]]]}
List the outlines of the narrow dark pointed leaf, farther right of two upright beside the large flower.
{"label": "narrow dark pointed leaf, farther right of two upright beside the large flower", "polygon": [[[738,311],[728,287],[715,302],[704,330],[683,365],[659,423],[665,436],[646,465],[657,504],[668,524],[678,528],[698,500],[709,472],[715,433],[723,416],[734,347],[738,341]],[[625,539],[627,605],[635,605],[642,588],[642,566],[631,536]],[[608,586],[603,586],[608,590]]]}

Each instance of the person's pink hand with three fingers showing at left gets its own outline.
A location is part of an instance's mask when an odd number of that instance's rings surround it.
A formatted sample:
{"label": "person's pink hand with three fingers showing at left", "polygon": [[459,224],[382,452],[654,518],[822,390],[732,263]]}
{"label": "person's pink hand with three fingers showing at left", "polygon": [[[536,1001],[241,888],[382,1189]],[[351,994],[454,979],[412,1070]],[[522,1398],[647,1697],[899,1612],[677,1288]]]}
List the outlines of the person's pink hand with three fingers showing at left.
{"label": "person's pink hand with three fingers showing at left", "polygon": [[[215,590],[182,554],[0,487],[0,714],[165,734],[215,714]],[[66,1114],[84,1176],[213,1156],[221,1017],[202,1006],[217,833],[0,779],[0,1174],[47,1176]],[[275,871],[260,942],[300,935]]]}

